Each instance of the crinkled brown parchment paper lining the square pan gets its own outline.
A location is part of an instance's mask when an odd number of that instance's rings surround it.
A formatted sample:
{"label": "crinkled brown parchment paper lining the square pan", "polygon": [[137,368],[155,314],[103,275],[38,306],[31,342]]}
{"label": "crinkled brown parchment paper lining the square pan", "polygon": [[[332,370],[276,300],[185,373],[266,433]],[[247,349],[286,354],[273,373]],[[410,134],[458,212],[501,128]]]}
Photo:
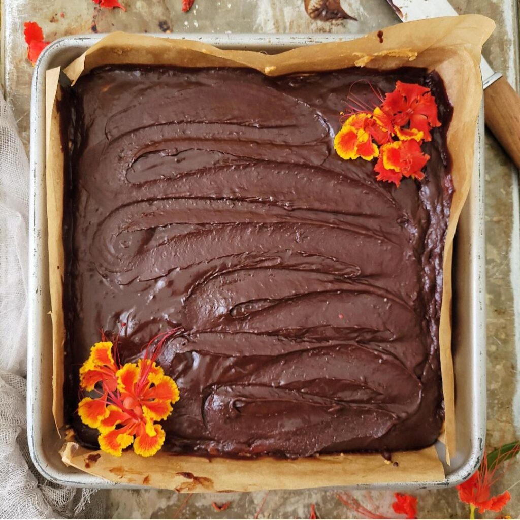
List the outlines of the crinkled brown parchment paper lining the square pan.
{"label": "crinkled brown parchment paper lining the square pan", "polygon": [[[104,64],[158,64],[183,67],[251,67],[276,76],[293,72],[341,69],[350,66],[393,69],[413,65],[435,69],[443,78],[454,107],[448,132],[453,160],[455,192],[444,251],[443,302],[440,316],[440,360],[445,399],[445,427],[441,440],[455,452],[455,405],[451,357],[451,263],[453,237],[470,188],[477,114],[482,98],[479,61],[483,43],[495,23],[483,16],[466,15],[403,23],[349,42],[309,45],[277,55],[253,51],[221,50],[188,40],[113,33],[89,48],[64,72],[72,84],[94,67]],[[48,71],[47,107],[47,212],[49,272],[54,352],[53,413],[63,426],[63,151],[59,137],[56,98],[60,96],[58,70]],[[263,457],[235,460],[222,457],[175,456],[159,452],[152,459],[126,451],[113,457],[88,451],[72,440],[61,450],[63,462],[113,482],[149,485],[180,492],[300,489],[372,483],[423,482],[444,478],[434,447],[393,453],[399,464],[388,464],[379,454],[340,454],[279,460]]]}

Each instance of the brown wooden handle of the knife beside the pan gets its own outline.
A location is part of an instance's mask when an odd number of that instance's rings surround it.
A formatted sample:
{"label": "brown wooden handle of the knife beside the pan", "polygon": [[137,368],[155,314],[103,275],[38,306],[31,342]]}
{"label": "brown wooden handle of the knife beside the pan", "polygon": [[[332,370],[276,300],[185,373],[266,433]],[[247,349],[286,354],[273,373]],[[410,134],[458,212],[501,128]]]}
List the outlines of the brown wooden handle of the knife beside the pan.
{"label": "brown wooden handle of the knife beside the pan", "polygon": [[520,96],[501,77],[484,90],[486,125],[520,168]]}

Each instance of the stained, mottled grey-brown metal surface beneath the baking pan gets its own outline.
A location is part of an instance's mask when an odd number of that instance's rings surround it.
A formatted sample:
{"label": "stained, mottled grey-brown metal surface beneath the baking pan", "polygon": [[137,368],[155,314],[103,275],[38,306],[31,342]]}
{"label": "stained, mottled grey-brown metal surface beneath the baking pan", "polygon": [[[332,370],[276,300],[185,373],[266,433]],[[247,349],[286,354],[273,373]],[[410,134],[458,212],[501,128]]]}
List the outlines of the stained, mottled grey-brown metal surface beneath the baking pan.
{"label": "stained, mottled grey-brown metal surface beneath the baking pan", "polygon": [[[398,23],[384,0],[342,0],[344,8],[358,21],[311,21],[303,0],[198,0],[188,14],[180,0],[122,0],[127,11],[98,11],[90,0],[0,0],[2,4],[2,77],[6,98],[14,110],[25,144],[29,143],[29,96],[32,66],[23,42],[23,22],[40,23],[48,40],[68,34],[90,33],[93,22],[99,31],[115,29],[135,32],[306,32],[362,33]],[[497,30],[484,48],[493,68],[509,81],[518,81],[517,0],[451,0],[462,14],[479,12],[497,22]],[[64,12],[65,17],[59,16]],[[57,15],[57,16],[55,16]],[[161,27],[160,27],[161,25]],[[6,64],[6,66],[4,66]],[[517,355],[520,347],[520,213],[518,172],[487,132],[485,137],[485,227],[487,367],[488,367],[488,449],[510,441],[520,433],[520,393]],[[513,463],[499,484],[506,489],[520,479],[520,462]],[[500,490],[499,489],[499,490]],[[520,493],[511,490],[506,514],[516,516]],[[454,489],[416,493],[420,517],[464,517],[466,506]],[[170,491],[124,491],[106,493],[109,517],[252,517],[265,493],[195,495],[185,497]],[[359,491],[355,496],[382,514],[393,514],[390,491]],[[231,500],[231,506],[216,512],[212,501]],[[348,518],[355,513],[340,504],[332,491],[271,491],[259,517],[308,517],[310,503],[321,517]],[[516,514],[515,514],[516,512]]]}

